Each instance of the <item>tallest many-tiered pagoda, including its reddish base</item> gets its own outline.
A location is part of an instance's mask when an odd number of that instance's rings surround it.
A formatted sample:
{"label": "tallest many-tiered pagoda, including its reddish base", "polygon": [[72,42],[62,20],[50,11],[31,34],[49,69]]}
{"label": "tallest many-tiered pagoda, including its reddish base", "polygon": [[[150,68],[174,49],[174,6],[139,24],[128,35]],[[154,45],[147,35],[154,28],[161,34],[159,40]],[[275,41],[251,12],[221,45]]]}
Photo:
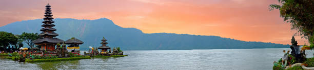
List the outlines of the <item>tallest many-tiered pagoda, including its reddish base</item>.
{"label": "tallest many-tiered pagoda, including its reddish base", "polygon": [[57,43],[62,43],[64,42],[63,40],[57,39],[55,38],[56,36],[58,36],[57,33],[53,32],[56,29],[53,28],[53,26],[55,26],[54,21],[52,21],[52,12],[51,12],[51,6],[49,4],[46,5],[46,12],[45,12],[45,18],[43,21],[43,25],[41,29],[41,31],[43,31],[42,33],[40,33],[38,36],[40,36],[40,38],[38,38],[37,40],[34,40],[33,43],[41,46],[41,50],[45,50],[45,51],[53,51],[55,49],[55,45]]}

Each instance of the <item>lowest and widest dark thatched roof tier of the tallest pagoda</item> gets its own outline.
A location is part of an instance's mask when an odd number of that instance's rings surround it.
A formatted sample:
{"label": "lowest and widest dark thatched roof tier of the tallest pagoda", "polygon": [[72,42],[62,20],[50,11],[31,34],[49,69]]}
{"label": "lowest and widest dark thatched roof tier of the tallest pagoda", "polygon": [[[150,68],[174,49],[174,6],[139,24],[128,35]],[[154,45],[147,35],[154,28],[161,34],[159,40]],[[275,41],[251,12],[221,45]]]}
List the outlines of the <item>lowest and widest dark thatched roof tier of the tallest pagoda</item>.
{"label": "lowest and widest dark thatched roof tier of the tallest pagoda", "polygon": [[62,43],[64,42],[63,40],[60,40],[58,38],[38,38],[37,40],[33,41],[35,44],[40,44],[40,43]]}

